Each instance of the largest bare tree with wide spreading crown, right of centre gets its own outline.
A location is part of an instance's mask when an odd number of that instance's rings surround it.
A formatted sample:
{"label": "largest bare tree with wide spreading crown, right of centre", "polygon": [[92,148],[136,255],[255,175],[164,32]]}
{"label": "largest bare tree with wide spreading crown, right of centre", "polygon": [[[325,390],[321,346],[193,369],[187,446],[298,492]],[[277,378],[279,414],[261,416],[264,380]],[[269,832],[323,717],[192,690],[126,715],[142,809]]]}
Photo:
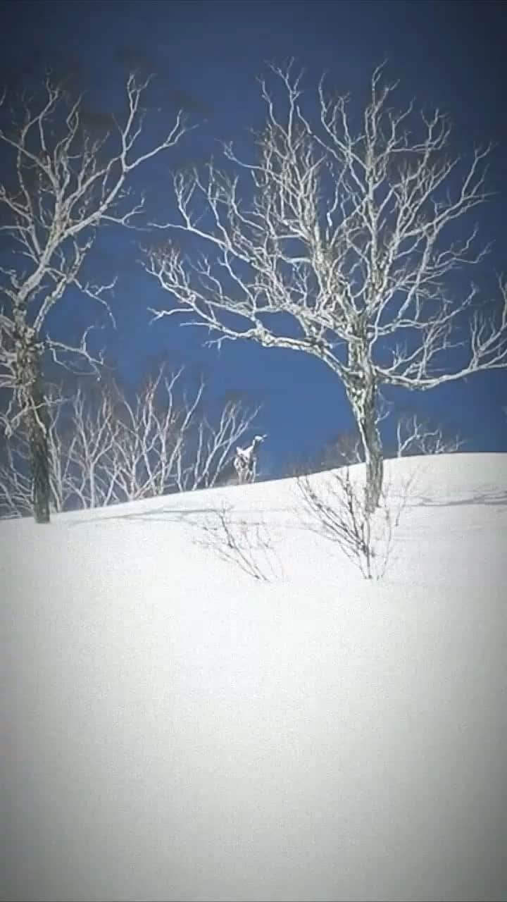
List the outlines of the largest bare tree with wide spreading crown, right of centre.
{"label": "largest bare tree with wide spreading crown, right of centre", "polygon": [[170,242],[145,258],[174,299],[155,319],[190,313],[183,325],[217,336],[207,344],[246,338],[336,373],[364,449],[370,510],[383,482],[381,387],[424,391],[507,365],[507,283],[489,316],[475,286],[459,294],[455,279],[487,251],[466,215],[488,197],[490,148],[453,154],[446,115],[415,115],[413,103],[393,110],[397,85],[383,83],[382,69],[356,125],[324,79],[312,116],[292,65],[272,67],[252,159],[226,145],[224,169],[212,161],[173,179],[179,219],[161,228],[194,235],[211,255],[189,259]]}

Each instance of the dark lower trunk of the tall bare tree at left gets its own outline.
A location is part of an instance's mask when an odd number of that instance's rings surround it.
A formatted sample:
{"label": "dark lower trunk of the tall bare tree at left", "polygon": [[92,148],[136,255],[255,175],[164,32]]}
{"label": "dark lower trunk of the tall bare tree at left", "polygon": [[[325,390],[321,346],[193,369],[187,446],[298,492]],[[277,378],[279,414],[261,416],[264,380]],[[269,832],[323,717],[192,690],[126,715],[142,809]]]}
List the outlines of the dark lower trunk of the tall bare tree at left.
{"label": "dark lower trunk of the tall bare tree at left", "polygon": [[33,519],[36,523],[50,522],[50,453],[43,400],[41,383],[37,380],[32,389],[32,409],[27,415],[32,467]]}

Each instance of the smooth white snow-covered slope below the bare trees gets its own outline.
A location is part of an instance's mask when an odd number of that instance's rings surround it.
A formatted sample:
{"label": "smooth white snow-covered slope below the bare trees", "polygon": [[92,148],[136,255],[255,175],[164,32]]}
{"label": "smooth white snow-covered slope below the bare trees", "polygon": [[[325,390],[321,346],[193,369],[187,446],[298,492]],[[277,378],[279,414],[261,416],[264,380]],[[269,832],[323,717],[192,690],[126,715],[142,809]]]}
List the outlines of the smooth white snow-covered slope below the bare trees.
{"label": "smooth white snow-covered slope below the bare trees", "polygon": [[507,899],[507,455],[414,468],[381,583],[290,479],[0,524],[3,899]]}

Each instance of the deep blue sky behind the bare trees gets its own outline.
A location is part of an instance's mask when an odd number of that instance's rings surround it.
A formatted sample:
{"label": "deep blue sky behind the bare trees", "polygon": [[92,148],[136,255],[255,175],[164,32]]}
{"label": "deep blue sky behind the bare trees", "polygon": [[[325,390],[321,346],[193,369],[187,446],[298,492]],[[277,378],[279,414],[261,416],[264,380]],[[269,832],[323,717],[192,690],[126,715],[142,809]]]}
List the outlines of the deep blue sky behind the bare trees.
{"label": "deep blue sky behind the bare trees", "polygon": [[[490,265],[507,271],[504,208],[507,178],[507,14],[502,2],[466,0],[142,0],[122,3],[18,2],[1,5],[3,61],[35,72],[47,63],[78,64],[78,80],[93,105],[117,106],[125,56],[134,54],[160,76],[168,111],[183,103],[207,124],[177,154],[152,170],[151,202],[161,205],[167,167],[206,157],[217,138],[235,139],[260,124],[262,106],[255,77],[264,60],[294,56],[308,69],[309,87],[328,69],[334,85],[363,96],[372,69],[389,60],[403,95],[446,109],[456,124],[456,143],[493,139],[491,185],[498,197],[484,209],[484,241],[495,239]],[[5,40],[7,39],[7,40]],[[169,192],[168,192],[169,197]],[[174,319],[148,326],[147,306],[164,297],[135,265],[124,237],[101,245],[97,265],[117,270],[118,333],[111,352],[124,376],[134,379],[151,354],[169,349],[180,359],[204,361],[216,391],[242,389],[265,405],[259,428],[269,433],[264,470],[280,473],[291,458],[316,451],[351,424],[343,392],[316,360],[246,343],[203,352],[201,333],[179,329]],[[69,317],[69,307],[66,317]],[[93,311],[90,311],[93,312]],[[62,308],[63,316],[63,308]],[[80,316],[72,308],[78,323]],[[85,313],[85,317],[87,314]],[[407,402],[399,393],[401,404]],[[410,399],[409,399],[410,400]],[[470,439],[467,450],[507,450],[505,373],[477,374],[445,388],[411,396],[443,426]]]}

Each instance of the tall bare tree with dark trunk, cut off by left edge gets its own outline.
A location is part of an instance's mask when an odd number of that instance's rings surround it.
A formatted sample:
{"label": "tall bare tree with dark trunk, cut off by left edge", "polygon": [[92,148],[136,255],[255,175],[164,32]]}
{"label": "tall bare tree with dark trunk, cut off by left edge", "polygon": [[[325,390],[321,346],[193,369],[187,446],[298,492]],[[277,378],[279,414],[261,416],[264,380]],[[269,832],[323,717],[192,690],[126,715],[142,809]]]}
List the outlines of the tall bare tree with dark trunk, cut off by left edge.
{"label": "tall bare tree with dark trunk, cut off by left edge", "polygon": [[[81,275],[97,226],[134,224],[143,210],[143,198],[134,201],[130,194],[134,172],[186,131],[178,114],[161,140],[146,142],[142,99],[149,82],[131,75],[123,118],[107,117],[104,128],[100,117],[102,132],[97,132],[89,115],[87,125],[83,98],[72,99],[48,77],[41,95],[20,98],[13,128],[0,129],[10,164],[0,183],[0,231],[8,260],[0,267],[0,389],[9,399],[2,421],[7,433],[26,425],[37,522],[50,520],[44,357],[67,365],[79,358],[91,367],[101,359],[90,350],[90,328],[78,345],[69,345],[50,335],[48,320],[70,288],[104,305],[112,318],[106,298],[113,282],[94,285]],[[2,101],[5,105],[5,96]]]}

